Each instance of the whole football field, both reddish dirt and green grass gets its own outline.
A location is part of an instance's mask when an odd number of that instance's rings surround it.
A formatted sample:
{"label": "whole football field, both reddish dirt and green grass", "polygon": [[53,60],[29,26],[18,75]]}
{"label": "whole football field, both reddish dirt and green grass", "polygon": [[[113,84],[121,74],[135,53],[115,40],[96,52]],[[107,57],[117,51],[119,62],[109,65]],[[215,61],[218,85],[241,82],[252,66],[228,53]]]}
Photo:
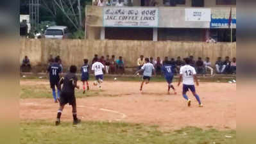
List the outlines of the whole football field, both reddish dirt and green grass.
{"label": "whole football field, both reddish dirt and green grass", "polygon": [[167,95],[164,81],[144,85],[142,93],[139,81],[104,81],[103,90],[90,81],[85,94],[79,82],[82,123],[72,125],[67,105],[58,127],[58,104],[47,79],[21,79],[20,84],[21,143],[236,143],[235,83],[201,82],[196,92],[204,107],[189,92],[188,108],[176,82],[177,95]]}

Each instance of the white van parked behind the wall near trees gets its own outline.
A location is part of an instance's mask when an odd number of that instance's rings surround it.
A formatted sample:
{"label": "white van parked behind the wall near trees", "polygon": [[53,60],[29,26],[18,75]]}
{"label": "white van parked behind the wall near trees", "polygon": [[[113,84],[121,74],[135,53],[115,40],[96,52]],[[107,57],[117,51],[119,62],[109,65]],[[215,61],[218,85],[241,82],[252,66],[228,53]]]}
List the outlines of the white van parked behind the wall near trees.
{"label": "white van parked behind the wall near trees", "polygon": [[51,26],[44,33],[45,38],[64,39],[68,38],[67,26]]}

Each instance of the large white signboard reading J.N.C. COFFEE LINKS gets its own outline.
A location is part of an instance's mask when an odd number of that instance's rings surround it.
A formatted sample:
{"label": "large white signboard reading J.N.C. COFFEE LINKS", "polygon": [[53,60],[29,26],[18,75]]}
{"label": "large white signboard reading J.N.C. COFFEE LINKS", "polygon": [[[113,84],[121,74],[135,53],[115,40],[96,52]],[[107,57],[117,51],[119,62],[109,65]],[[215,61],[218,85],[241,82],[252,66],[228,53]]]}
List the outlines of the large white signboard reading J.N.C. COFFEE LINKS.
{"label": "large white signboard reading J.N.C. COFFEE LINKS", "polygon": [[105,27],[158,27],[158,8],[104,7]]}

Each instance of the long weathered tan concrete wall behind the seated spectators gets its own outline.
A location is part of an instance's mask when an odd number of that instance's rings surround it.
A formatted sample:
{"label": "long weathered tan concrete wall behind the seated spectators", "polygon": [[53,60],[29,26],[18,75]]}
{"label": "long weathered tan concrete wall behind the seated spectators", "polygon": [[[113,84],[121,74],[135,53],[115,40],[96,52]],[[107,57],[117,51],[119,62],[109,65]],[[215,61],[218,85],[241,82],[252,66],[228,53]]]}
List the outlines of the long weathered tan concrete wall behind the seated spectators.
{"label": "long weathered tan concrete wall behind the seated spectators", "polygon": [[49,55],[60,55],[64,67],[69,65],[82,65],[83,59],[90,61],[94,54],[106,56],[114,54],[123,56],[126,67],[134,67],[141,54],[156,58],[164,56],[169,58],[182,58],[193,55],[205,58],[209,56],[212,63],[221,56],[236,56],[236,43],[206,44],[205,42],[150,42],[150,41],[124,41],[124,40],[49,40],[49,39],[21,39],[20,61],[28,56],[31,65],[46,65]]}

